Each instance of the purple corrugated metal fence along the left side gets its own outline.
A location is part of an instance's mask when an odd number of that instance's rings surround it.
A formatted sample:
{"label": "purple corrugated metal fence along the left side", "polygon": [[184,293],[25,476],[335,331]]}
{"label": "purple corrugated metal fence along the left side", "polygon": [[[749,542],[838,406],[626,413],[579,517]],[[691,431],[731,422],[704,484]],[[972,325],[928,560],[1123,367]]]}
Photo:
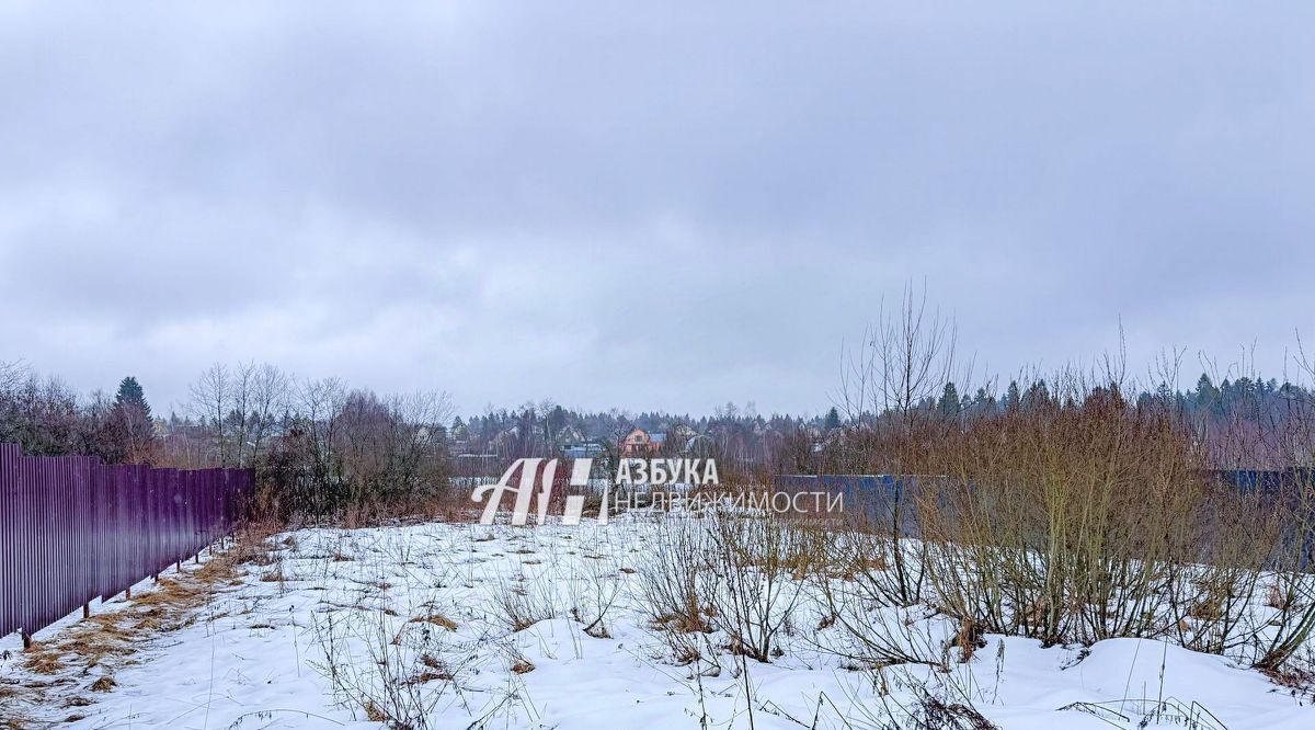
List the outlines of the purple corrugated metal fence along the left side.
{"label": "purple corrugated metal fence along the left side", "polygon": [[30,635],[227,534],[246,470],[107,466],[0,443],[0,635]]}

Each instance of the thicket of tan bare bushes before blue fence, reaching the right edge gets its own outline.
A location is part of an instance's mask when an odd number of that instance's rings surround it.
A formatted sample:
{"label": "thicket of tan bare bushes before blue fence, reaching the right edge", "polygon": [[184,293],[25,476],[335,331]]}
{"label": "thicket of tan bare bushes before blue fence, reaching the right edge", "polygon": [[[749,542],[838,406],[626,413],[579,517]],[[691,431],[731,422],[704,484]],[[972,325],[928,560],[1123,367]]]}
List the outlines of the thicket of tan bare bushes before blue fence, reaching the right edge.
{"label": "thicket of tan bare bushes before blue fence, reaching the right edge", "polygon": [[[894,602],[985,631],[1172,638],[1282,664],[1315,622],[1310,484],[1237,489],[1203,468],[1193,435],[1172,404],[1114,387],[992,418],[874,424],[852,435],[855,458],[907,476],[857,525],[882,566],[860,572]],[[1257,622],[1264,600],[1283,610]]]}

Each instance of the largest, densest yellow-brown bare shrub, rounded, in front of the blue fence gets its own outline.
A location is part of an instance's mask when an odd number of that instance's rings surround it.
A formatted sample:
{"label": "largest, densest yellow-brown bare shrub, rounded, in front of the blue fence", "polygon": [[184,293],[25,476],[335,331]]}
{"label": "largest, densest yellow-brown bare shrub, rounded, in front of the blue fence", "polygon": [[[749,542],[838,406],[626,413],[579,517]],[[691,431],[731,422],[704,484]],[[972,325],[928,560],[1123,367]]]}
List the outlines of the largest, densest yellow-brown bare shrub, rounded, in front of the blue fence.
{"label": "largest, densest yellow-brown bare shrub, rounded, in front of the blue fence", "polygon": [[947,476],[914,497],[938,605],[1047,643],[1157,635],[1207,491],[1168,414],[1114,387],[1074,400],[945,434]]}

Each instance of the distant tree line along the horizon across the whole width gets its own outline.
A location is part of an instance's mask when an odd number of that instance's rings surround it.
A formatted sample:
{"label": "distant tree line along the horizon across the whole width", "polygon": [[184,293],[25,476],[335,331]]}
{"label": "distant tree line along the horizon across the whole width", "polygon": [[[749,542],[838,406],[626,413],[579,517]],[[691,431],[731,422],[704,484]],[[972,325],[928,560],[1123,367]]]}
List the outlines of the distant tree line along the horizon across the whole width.
{"label": "distant tree line along the horizon across the whole width", "polygon": [[[947,380],[939,397],[924,395],[910,409],[961,421],[1065,401],[1073,405],[1076,397],[1085,396],[1065,392],[1043,377],[1024,385],[1010,380],[998,395],[994,388],[978,387],[970,396],[960,395],[955,381]],[[1216,384],[1202,374],[1194,388],[1160,384],[1136,389],[1127,399],[1128,408],[1152,402],[1169,406],[1191,424],[1219,468],[1306,466],[1285,454],[1281,443],[1287,424],[1304,424],[1315,414],[1315,392],[1302,384],[1258,376],[1223,377]],[[590,412],[542,400],[512,409],[489,406],[463,418],[454,416],[443,393],[381,397],[337,379],[301,383],[274,366],[243,363],[208,368],[191,387],[187,410],[162,418],[153,416],[142,384],[132,375],[120,381],[113,396],[103,391],[83,396],[58,377],[41,376],[18,363],[0,363],[0,442],[18,443],[28,454],[82,454],[107,463],[184,468],[277,462],[288,472],[288,462],[295,460],[289,454],[301,451],[312,454],[306,462],[314,464],[310,471],[318,475],[316,479],[339,484],[350,481],[343,476],[342,452],[356,460],[363,454],[359,446],[338,452],[333,442],[356,441],[356,431],[363,429],[392,431],[391,439],[371,435],[373,449],[397,451],[402,443],[421,442],[416,451],[425,452],[430,462],[475,454],[496,456],[502,464],[525,456],[556,456],[571,445],[615,445],[630,429],[639,427],[667,434],[664,454],[689,452],[693,442],[701,446],[700,454],[715,454],[764,475],[815,471],[817,459],[801,456],[843,447],[836,434],[864,429],[890,409],[876,410],[842,413],[832,406],[822,414],[763,416],[752,404],[727,402],[711,414],[692,416]],[[366,429],[366,424],[371,427]],[[1245,441],[1244,447],[1239,439]],[[418,458],[398,459],[393,454],[380,460],[410,464]],[[388,479],[371,481],[383,484]]]}

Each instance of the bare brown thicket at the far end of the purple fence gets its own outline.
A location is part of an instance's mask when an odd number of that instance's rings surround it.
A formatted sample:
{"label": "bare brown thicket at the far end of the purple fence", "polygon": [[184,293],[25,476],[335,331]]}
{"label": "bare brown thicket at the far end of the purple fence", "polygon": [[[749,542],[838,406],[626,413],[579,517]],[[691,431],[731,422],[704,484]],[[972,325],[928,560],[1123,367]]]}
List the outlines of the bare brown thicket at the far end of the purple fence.
{"label": "bare brown thicket at the far end of the purple fence", "polygon": [[272,366],[214,366],[163,451],[175,462],[256,471],[284,518],[370,518],[444,506],[446,393],[379,396]]}

